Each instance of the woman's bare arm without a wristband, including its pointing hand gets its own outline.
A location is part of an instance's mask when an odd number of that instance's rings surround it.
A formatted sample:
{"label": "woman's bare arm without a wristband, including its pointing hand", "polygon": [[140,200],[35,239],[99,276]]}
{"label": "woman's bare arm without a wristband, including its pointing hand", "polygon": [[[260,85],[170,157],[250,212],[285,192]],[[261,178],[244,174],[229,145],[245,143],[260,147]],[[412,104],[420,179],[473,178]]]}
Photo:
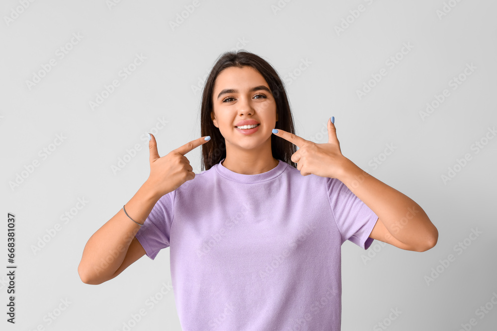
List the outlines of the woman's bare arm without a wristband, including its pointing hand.
{"label": "woman's bare arm without a wristband, including its pointing hand", "polygon": [[370,238],[404,250],[424,252],[438,241],[438,230],[413,199],[369,175],[342,155],[332,118],[328,120],[328,143],[317,144],[279,130],[276,135],[299,147],[291,157],[304,176],[336,178],[361,199],[378,220]]}

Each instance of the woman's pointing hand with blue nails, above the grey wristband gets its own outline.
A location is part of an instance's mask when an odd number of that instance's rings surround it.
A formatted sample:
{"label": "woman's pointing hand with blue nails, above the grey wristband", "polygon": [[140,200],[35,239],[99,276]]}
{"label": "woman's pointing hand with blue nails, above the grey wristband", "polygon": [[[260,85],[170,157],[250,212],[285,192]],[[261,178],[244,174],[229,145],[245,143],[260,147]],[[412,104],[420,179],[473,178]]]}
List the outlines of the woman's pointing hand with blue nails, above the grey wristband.
{"label": "woman's pointing hand with blue nails, above the grey wristband", "polygon": [[157,151],[155,136],[152,133],[150,135],[150,176],[147,181],[154,188],[155,194],[160,198],[176,190],[184,182],[195,178],[190,161],[188,161],[184,154],[209,140],[204,140],[205,137],[200,137],[160,157]]}

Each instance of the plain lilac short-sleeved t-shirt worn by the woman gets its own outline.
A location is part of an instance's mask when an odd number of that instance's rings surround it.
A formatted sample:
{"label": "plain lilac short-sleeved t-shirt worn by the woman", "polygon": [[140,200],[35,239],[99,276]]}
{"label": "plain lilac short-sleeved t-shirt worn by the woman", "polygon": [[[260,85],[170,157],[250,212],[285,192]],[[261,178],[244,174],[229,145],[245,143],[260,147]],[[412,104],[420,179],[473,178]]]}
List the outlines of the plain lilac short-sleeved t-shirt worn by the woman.
{"label": "plain lilac short-sleeved t-shirt worn by the woman", "polygon": [[223,160],[159,199],[136,234],[152,260],[170,249],[182,329],[340,330],[341,245],[368,249],[378,216],[337,179]]}

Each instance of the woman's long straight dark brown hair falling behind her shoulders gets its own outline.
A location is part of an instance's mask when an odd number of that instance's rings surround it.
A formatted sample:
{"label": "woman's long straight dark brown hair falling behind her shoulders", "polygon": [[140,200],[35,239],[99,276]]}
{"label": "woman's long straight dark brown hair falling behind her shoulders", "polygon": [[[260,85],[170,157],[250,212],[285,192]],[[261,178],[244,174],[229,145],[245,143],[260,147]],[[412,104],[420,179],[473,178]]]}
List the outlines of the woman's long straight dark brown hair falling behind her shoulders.
{"label": "woman's long straight dark brown hair falling behind her shoulders", "polygon": [[[211,140],[208,143],[202,144],[201,171],[209,170],[213,165],[226,158],[225,139],[221,135],[219,128],[214,126],[211,111],[214,109],[212,93],[214,92],[216,78],[222,70],[231,66],[240,68],[250,66],[260,72],[269,85],[269,89],[276,102],[276,112],[278,114],[276,129],[295,133],[293,115],[290,110],[285,87],[276,70],[261,57],[245,50],[225,52],[219,56],[212,67],[202,92],[202,106],[200,110],[201,136],[210,135]],[[292,167],[297,168],[297,164],[290,159],[296,151],[297,148],[293,143],[271,134],[271,152],[275,159],[282,160]]]}

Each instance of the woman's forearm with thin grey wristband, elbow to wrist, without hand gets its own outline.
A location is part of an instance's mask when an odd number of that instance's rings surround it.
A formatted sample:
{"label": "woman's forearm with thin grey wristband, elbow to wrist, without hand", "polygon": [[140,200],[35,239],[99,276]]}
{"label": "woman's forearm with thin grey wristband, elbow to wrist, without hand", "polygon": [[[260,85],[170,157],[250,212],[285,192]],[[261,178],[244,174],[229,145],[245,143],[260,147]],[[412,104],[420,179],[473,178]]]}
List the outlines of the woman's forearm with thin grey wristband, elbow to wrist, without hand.
{"label": "woman's forearm with thin grey wristband, elbow to wrist, without hand", "polygon": [[[143,224],[159,198],[154,194],[150,183],[145,182],[126,203],[126,212],[132,219]],[[110,279],[122,264],[139,229],[140,226],[130,220],[122,208],[103,224],[89,238],[83,249],[78,266],[82,280],[99,284]]]}

